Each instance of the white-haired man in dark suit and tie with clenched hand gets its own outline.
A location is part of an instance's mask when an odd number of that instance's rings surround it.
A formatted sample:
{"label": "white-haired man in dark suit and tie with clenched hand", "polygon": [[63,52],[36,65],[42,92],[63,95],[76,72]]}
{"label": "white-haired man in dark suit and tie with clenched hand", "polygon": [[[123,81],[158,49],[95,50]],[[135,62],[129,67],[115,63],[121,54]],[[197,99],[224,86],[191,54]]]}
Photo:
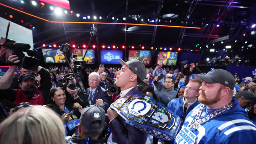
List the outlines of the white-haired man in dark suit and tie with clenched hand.
{"label": "white-haired man in dark suit and tie with clenched hand", "polygon": [[89,94],[88,101],[90,105],[97,105],[106,111],[109,107],[107,100],[106,90],[103,89],[100,85],[100,75],[98,73],[91,73],[89,75],[89,88],[86,90]]}

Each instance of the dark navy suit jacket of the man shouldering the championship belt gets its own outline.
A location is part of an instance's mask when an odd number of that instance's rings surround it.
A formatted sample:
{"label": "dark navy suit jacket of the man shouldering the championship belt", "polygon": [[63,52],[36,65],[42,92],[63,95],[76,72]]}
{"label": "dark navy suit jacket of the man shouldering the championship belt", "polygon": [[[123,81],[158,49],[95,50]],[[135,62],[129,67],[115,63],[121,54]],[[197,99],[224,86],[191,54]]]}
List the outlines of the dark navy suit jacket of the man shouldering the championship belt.
{"label": "dark navy suit jacket of the man shouldering the championship belt", "polygon": [[[131,89],[127,95],[142,94],[138,86]],[[109,123],[112,133],[112,142],[118,144],[145,144],[148,134],[127,124],[121,116],[112,119]]]}

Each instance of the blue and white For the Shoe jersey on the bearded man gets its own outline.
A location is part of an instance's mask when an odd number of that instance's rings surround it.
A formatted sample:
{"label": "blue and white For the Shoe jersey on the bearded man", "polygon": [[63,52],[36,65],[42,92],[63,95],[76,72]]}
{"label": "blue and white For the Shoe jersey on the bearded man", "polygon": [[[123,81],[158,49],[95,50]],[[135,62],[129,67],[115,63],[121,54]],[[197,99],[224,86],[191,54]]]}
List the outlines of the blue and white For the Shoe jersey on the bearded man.
{"label": "blue and white For the Shoe jersey on the bearded man", "polygon": [[[174,143],[176,144],[237,144],[255,143],[256,127],[247,117],[247,113],[239,106],[238,101],[232,98],[234,104],[229,110],[219,113],[208,121],[199,124],[197,129],[191,128],[199,108],[197,105],[187,115],[180,132]],[[208,109],[209,110],[209,109]],[[209,113],[204,107],[199,118],[206,117]]]}

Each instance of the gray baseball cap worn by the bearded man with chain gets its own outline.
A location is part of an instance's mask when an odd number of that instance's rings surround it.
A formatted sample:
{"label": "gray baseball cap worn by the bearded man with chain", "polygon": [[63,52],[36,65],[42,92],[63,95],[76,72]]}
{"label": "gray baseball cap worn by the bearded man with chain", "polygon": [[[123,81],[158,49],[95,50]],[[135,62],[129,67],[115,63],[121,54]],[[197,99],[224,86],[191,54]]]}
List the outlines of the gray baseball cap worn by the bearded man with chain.
{"label": "gray baseball cap worn by the bearded man with chain", "polygon": [[209,83],[220,83],[224,86],[229,87],[231,90],[234,90],[236,83],[234,76],[223,69],[213,69],[209,71],[206,75],[196,74],[194,78]]}

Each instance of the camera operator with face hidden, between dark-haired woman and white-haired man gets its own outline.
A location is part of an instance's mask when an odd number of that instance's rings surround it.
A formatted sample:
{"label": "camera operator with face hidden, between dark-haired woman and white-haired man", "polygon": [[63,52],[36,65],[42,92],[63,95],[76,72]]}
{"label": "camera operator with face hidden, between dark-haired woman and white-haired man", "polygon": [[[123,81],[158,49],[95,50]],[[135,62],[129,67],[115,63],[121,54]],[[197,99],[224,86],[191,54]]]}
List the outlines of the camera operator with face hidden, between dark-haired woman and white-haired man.
{"label": "camera operator with face hidden, between dark-haired woman and white-haired man", "polygon": [[73,104],[78,102],[84,108],[85,106],[87,106],[85,103],[85,101],[86,101],[85,98],[87,97],[86,90],[82,89],[82,91],[84,92],[84,94],[86,96],[84,98],[80,88],[76,87],[77,85],[76,85],[75,78],[72,76],[69,76],[69,77],[67,77],[67,79],[69,79],[68,84],[66,84],[67,82],[63,82],[61,85],[66,94],[66,101],[73,103]]}

